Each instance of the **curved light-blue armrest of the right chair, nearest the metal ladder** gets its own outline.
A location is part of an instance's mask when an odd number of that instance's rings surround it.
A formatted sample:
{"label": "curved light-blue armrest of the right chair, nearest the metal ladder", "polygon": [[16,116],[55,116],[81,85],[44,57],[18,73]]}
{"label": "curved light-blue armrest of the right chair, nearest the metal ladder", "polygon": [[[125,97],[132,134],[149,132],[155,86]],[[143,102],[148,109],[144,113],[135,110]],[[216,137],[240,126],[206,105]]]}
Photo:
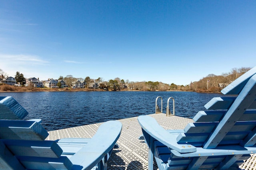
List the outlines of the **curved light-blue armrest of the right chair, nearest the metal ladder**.
{"label": "curved light-blue armrest of the right chair, nearest the metal ladder", "polygon": [[140,123],[142,129],[148,133],[148,135],[166,145],[170,149],[177,150],[180,153],[196,152],[196,147],[192,145],[178,144],[176,141],[177,135],[172,135],[172,133],[166,131],[153,117],[142,115],[138,117],[138,122]]}

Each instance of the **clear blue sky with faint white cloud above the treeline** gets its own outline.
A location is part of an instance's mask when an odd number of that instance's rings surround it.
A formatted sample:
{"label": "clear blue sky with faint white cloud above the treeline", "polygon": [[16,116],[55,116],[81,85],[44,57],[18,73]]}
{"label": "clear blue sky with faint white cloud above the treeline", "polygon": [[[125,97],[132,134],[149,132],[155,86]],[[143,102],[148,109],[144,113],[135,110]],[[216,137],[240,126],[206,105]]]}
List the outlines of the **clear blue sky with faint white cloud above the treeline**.
{"label": "clear blue sky with faint white cloud above the treeline", "polygon": [[186,85],[256,66],[255,0],[0,0],[0,69]]}

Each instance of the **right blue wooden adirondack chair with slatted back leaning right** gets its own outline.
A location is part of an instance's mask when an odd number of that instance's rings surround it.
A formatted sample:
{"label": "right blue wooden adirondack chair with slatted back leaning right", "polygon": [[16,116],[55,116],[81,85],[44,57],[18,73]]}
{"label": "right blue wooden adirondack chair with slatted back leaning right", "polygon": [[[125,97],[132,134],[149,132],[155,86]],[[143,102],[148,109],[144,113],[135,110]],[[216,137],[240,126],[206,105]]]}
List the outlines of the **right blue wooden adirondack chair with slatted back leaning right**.
{"label": "right blue wooden adirondack chair with slatted back leaning right", "polygon": [[182,130],[164,130],[153,117],[139,116],[149,148],[160,170],[238,168],[256,153],[256,67],[222,90]]}

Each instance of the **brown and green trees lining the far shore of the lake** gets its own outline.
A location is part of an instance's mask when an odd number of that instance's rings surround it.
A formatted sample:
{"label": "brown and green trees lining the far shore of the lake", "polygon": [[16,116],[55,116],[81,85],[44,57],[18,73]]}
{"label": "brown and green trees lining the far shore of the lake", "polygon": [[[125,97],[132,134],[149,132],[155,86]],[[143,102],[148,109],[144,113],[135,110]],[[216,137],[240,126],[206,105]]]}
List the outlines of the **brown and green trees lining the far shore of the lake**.
{"label": "brown and green trees lining the far shore of the lake", "polygon": [[[226,87],[228,84],[236,80],[239,76],[250,70],[250,67],[241,67],[241,68],[232,68],[230,72],[222,73],[222,75],[217,76],[215,74],[208,74],[206,77],[200,79],[196,82],[191,82],[187,85],[176,85],[166,84],[162,82],[152,82],[152,81],[143,81],[143,82],[130,82],[129,80],[124,81],[120,78],[114,78],[114,80],[103,81],[103,78],[92,79],[89,76],[86,78],[75,78],[72,75],[67,75],[66,77],[60,76],[58,80],[64,80],[66,84],[71,88],[65,89],[51,89],[55,91],[60,90],[142,90],[142,91],[193,91],[193,92],[213,92],[218,93],[222,90],[222,88]],[[7,75],[0,69],[0,75]],[[16,81],[19,84],[25,83],[25,78],[23,74],[20,72],[16,72]],[[72,83],[74,81],[86,82],[86,85],[83,89],[73,89]],[[89,84],[97,83],[99,84],[98,88],[92,88]],[[0,84],[0,91],[42,91],[46,90],[46,88],[33,88],[33,87],[16,87],[16,86],[8,86],[4,84]],[[50,89],[49,89],[50,90]]]}

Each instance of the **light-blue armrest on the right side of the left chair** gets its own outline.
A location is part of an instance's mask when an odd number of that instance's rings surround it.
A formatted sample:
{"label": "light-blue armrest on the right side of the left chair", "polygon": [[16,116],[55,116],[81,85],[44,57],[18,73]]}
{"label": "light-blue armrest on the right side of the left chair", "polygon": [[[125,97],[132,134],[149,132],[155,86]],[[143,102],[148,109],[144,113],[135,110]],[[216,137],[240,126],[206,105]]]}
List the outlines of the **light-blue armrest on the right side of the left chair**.
{"label": "light-blue armrest on the right side of the left chair", "polygon": [[121,130],[122,123],[119,121],[107,121],[100,125],[92,139],[70,157],[72,164],[82,166],[82,169],[93,168],[113,149]]}

